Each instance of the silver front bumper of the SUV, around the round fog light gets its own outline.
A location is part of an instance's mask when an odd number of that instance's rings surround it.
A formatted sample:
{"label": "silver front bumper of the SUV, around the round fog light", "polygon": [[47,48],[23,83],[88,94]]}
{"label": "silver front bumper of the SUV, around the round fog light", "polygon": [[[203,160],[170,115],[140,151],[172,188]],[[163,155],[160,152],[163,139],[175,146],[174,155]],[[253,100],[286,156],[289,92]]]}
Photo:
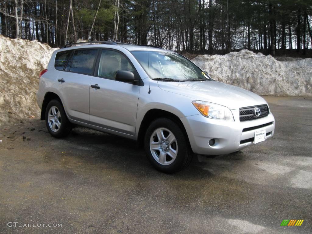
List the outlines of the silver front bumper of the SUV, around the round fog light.
{"label": "silver front bumper of the SUV, around the round fog light", "polygon": [[[181,118],[195,154],[218,155],[238,151],[254,144],[255,131],[259,129],[266,129],[266,139],[273,136],[275,119],[271,113],[264,118],[240,122],[237,118],[239,110],[231,111],[235,121],[210,119],[201,114]],[[254,129],[260,125],[266,126]],[[215,139],[213,146],[208,144],[211,139]]]}

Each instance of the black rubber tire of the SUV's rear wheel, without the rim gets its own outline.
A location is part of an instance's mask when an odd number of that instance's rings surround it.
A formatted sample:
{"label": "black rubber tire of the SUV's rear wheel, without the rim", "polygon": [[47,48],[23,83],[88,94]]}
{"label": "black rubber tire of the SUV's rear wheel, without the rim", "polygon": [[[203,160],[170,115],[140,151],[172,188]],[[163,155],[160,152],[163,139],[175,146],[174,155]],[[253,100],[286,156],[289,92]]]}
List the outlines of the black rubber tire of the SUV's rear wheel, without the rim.
{"label": "black rubber tire of the SUV's rear wheel, without the rim", "polygon": [[[56,109],[58,110],[57,112],[60,113],[60,118],[58,118],[58,120],[60,120],[60,127],[57,128],[56,127],[56,131],[53,131],[52,128],[50,127],[49,124],[49,114],[53,114],[53,112],[51,112],[51,108],[52,107],[56,107]],[[50,113],[49,113],[50,112]],[[66,137],[70,132],[71,132],[71,123],[69,122],[69,120],[67,119],[65,110],[63,105],[61,104],[60,100],[54,99],[51,100],[48,105],[46,106],[46,128],[48,129],[49,133],[55,137],[55,138],[62,138],[62,137]],[[50,121],[51,123],[51,121]]]}

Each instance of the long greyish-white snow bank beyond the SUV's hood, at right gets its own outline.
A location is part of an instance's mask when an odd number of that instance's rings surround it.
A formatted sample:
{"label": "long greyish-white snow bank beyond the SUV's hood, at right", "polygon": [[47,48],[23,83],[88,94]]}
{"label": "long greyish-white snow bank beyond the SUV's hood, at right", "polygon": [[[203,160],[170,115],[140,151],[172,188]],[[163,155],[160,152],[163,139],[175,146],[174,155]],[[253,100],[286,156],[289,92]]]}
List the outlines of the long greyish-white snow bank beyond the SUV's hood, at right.
{"label": "long greyish-white snow bank beyond the SUV's hood, at right", "polygon": [[277,61],[241,50],[226,55],[200,55],[192,60],[212,79],[260,95],[312,96],[312,59]]}

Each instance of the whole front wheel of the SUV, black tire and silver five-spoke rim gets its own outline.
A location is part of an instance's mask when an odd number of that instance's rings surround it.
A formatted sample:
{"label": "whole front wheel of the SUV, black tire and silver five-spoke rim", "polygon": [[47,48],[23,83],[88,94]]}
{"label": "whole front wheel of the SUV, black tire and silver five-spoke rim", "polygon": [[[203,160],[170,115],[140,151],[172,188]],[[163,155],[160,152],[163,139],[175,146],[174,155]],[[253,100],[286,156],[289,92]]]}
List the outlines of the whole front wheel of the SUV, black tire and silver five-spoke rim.
{"label": "whole front wheel of the SUV, black tire and silver five-spoke rim", "polygon": [[149,125],[144,148],[154,168],[166,173],[183,169],[192,159],[192,151],[183,130],[167,118],[156,119]]}

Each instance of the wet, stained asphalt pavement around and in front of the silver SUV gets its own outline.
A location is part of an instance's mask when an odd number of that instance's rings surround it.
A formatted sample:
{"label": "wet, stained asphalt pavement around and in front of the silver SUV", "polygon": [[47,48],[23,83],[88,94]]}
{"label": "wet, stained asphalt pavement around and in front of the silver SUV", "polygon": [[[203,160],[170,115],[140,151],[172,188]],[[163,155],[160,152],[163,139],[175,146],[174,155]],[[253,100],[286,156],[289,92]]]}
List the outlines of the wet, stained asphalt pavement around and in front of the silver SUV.
{"label": "wet, stained asphalt pavement around and in front of the silver SUV", "polygon": [[312,233],[312,98],[265,98],[273,138],[171,175],[118,136],[0,126],[0,233]]}

